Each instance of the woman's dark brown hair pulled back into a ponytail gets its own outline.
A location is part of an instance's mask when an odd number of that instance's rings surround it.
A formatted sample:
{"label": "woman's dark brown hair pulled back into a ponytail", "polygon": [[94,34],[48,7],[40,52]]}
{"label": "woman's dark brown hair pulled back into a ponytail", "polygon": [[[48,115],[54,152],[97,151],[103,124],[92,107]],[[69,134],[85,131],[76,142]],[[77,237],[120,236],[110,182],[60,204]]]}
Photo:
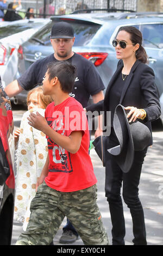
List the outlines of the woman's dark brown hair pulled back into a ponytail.
{"label": "woman's dark brown hair pulled back into a ponytail", "polygon": [[132,26],[124,26],[119,29],[118,33],[120,31],[126,31],[127,33],[129,33],[131,42],[133,42],[133,44],[135,45],[140,45],[139,49],[135,53],[136,59],[139,59],[143,63],[148,63],[148,56],[146,50],[142,46],[142,33],[139,31],[139,29]]}

